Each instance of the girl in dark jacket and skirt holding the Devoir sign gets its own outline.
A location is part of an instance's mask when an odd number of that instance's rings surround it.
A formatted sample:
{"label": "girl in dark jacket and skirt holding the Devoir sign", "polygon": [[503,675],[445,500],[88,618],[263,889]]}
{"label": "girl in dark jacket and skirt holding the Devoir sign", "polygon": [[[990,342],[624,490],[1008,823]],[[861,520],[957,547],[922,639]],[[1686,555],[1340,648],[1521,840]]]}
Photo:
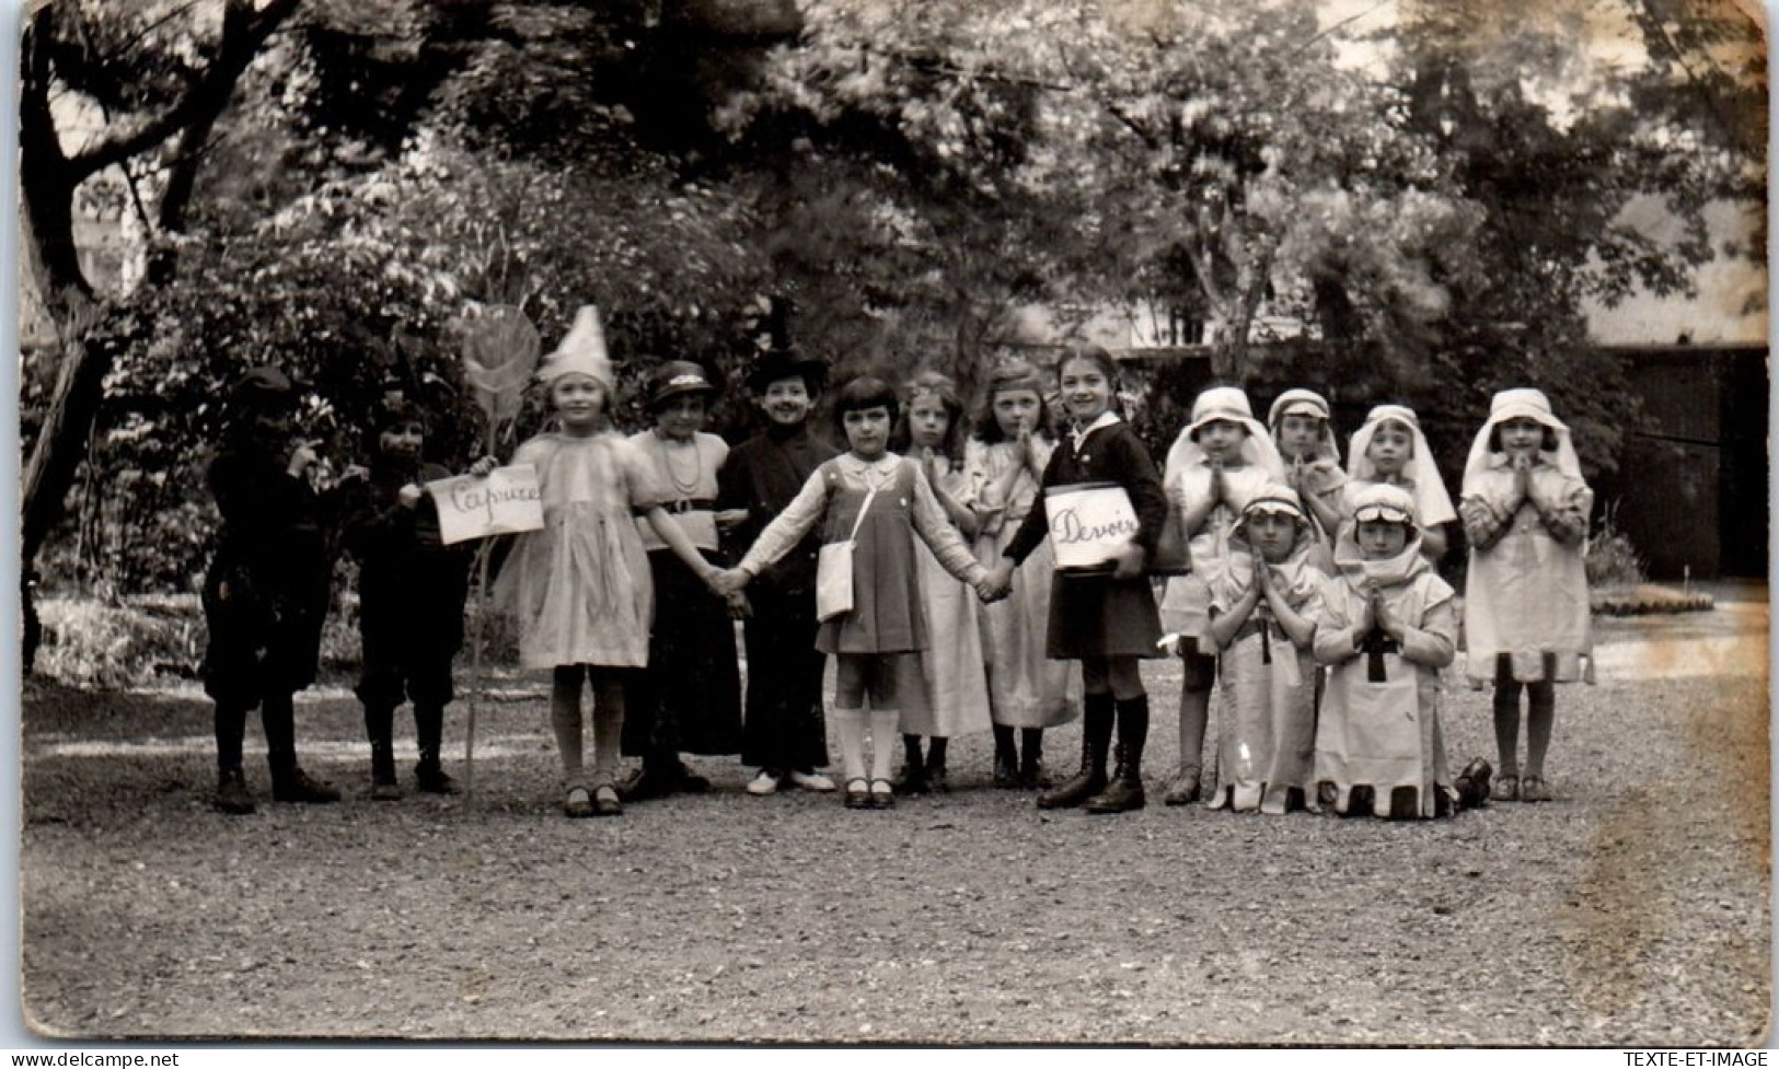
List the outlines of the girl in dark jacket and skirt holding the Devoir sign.
{"label": "girl in dark jacket and skirt holding the Devoir sign", "polygon": [[[1149,736],[1149,695],[1140,658],[1156,655],[1162,621],[1144,567],[1155,555],[1167,519],[1167,496],[1142,439],[1114,411],[1117,365],[1098,345],[1071,349],[1057,363],[1057,382],[1075,427],[1044,468],[1042,487],[1115,482],[1130,496],[1137,534],[1112,573],[1051,575],[1046,651],[1082,662],[1085,711],[1082,768],[1037,797],[1041,809],[1082,806],[1089,813],[1124,813],[1144,806],[1142,745]],[[1014,569],[1050,537],[1050,516],[1034,505],[991,576],[991,592],[1007,589]],[[1107,779],[1107,756],[1117,727],[1117,772]]]}

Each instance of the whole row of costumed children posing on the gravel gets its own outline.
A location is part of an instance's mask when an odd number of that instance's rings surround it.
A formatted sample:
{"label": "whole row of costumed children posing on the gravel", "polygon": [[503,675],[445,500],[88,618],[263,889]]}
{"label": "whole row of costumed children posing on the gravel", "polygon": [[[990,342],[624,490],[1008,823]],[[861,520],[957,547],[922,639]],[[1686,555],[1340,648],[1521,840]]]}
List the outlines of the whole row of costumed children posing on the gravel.
{"label": "whole row of costumed children posing on the gravel", "polygon": [[[1404,818],[1551,797],[1553,683],[1592,665],[1592,496],[1537,390],[1494,397],[1453,510],[1413,411],[1373,409],[1343,466],[1329,404],[1308,390],[1283,393],[1265,425],[1244,391],[1203,391],[1156,471],[1121,416],[1117,365],[1096,347],[1066,350],[1053,377],[998,363],[973,420],[945,375],[902,390],[852,379],[833,398],[845,452],[809,429],[825,365],[790,347],[749,368],[761,429],[735,448],[704,430],[717,388],[690,361],[651,377],[655,425],[619,434],[591,308],[537,386],[550,429],[511,462],[535,470],[544,523],[509,535],[493,601],[516,621],[521,665],[550,672],[569,816],[710,790],[688,752],[738,754],[758,768],[754,795],[840,790],[849,808],[891,808],[897,793],[946,790],[948,740],[980,731],[994,736],[996,786],[1039,790],[1046,809],[1137,809],[1149,733],[1139,665],[1155,656],[1183,669],[1167,804]],[[473,551],[443,544],[423,491],[448,471],[422,457],[425,414],[393,402],[370,464],[317,493],[313,443],[292,441],[294,400],[281,372],[249,372],[208,473],[222,514],[205,583],[215,804],[254,808],[242,772],[254,706],[272,797],[340,799],[297,765],[292,710],[315,678],[334,532],[359,564],[370,797],[402,795],[393,720],[404,701],[416,788],[452,793],[441,735]],[[470,473],[493,468],[484,457]],[[1059,567],[1046,496],[1082,486],[1121,487],[1135,534],[1099,567]],[[1459,610],[1434,567],[1453,521],[1469,543],[1466,674],[1494,687],[1500,758],[1455,777],[1439,697]],[[1158,603],[1151,573],[1174,535],[1185,566]],[[824,548],[850,566],[850,599],[827,614]],[[824,774],[829,656],[841,784]],[[1053,784],[1044,731],[1078,717],[1080,768]],[[897,736],[904,767],[891,779]],[[623,776],[621,756],[639,768]]]}

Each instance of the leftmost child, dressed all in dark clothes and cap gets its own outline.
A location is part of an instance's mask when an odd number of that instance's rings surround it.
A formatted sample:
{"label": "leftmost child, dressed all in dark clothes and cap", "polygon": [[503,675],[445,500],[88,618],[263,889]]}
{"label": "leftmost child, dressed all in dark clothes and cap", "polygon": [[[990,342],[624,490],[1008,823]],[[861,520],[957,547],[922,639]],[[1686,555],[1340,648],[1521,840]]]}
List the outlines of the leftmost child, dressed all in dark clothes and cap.
{"label": "leftmost child, dressed all in dark clothes and cap", "polygon": [[205,694],[215,701],[215,808],[253,813],[242,772],[247,713],[265,724],[272,797],[338,802],[297,767],[292,697],[315,681],[333,578],[329,510],[308,482],[313,443],[294,441],[295,390],[278,368],[247,372],[228,397],[228,430],[206,482],[222,514],[205,575]]}

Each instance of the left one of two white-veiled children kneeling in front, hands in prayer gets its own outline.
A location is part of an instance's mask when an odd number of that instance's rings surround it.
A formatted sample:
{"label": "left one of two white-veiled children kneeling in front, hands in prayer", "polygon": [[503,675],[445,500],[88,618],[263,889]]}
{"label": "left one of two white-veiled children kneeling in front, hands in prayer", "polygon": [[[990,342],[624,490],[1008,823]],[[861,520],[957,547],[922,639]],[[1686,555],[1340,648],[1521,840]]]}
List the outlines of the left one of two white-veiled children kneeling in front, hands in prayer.
{"label": "left one of two white-veiled children kneeling in front, hands in prayer", "polygon": [[1217,793],[1211,809],[1284,813],[1315,808],[1316,663],[1313,601],[1324,575],[1311,562],[1309,516],[1288,486],[1263,486],[1231,532],[1211,583],[1222,678]]}

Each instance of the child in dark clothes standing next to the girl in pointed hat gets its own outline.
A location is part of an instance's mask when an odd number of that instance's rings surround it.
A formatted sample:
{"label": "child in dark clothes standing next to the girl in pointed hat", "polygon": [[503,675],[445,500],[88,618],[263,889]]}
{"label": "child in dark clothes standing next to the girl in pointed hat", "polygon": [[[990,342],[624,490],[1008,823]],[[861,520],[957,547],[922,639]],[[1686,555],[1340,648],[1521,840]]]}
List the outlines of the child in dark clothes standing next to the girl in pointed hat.
{"label": "child in dark clothes standing next to the girl in pointed hat", "polygon": [[[358,630],[363,667],[358,699],[370,738],[370,797],[402,797],[395,783],[395,708],[415,703],[422,792],[455,793],[439,763],[445,706],[455,695],[452,658],[463,647],[463,608],[470,596],[468,543],[439,541],[439,516],[422,489],[450,471],[422,459],[425,414],[409,402],[386,404],[377,420],[370,470],[342,486],[345,548],[359,564]],[[477,461],[475,475],[495,466]]]}

